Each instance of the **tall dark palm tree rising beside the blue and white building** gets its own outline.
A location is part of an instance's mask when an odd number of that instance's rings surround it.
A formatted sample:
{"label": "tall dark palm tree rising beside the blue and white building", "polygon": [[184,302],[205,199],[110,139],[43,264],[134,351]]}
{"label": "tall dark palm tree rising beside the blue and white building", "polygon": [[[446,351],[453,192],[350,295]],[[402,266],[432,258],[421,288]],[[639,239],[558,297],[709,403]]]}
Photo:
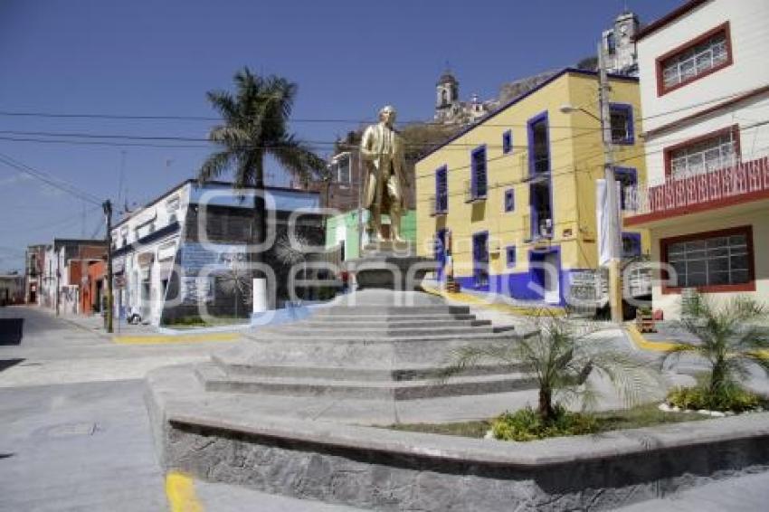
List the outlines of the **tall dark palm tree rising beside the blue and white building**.
{"label": "tall dark palm tree rising beside the blue and white building", "polygon": [[[326,162],[289,132],[289,118],[297,95],[297,84],[274,75],[260,77],[247,67],[234,76],[235,91],[210,90],[211,105],[223,123],[211,128],[209,140],[220,149],[208,156],[198,171],[204,183],[225,171],[234,174],[233,188],[254,190],[254,229],[252,242],[267,239],[265,215],[264,159],[274,157],[302,183],[317,175]],[[263,262],[261,252],[252,254],[252,262]]]}

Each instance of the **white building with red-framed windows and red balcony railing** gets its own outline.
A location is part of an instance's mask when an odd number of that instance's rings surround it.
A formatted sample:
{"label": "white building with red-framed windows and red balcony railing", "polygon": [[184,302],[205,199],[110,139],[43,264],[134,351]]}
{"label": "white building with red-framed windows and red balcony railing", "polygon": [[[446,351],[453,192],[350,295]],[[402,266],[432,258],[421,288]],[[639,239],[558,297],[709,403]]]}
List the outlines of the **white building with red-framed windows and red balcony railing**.
{"label": "white building with red-framed windows and red balcony railing", "polygon": [[648,228],[655,308],[681,290],[769,299],[769,4],[694,0],[637,37],[649,182],[628,228]]}

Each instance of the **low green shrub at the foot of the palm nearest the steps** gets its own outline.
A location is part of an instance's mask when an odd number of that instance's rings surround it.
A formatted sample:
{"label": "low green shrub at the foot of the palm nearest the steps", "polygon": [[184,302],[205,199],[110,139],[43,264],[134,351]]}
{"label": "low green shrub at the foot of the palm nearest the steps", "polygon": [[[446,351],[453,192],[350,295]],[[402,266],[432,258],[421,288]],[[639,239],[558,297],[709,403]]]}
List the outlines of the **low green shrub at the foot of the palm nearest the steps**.
{"label": "low green shrub at the foot of the palm nearest the steps", "polygon": [[599,431],[600,424],[591,414],[566,411],[555,405],[552,421],[544,422],[531,407],[505,412],[491,422],[494,439],[501,441],[534,441],[548,437],[583,435]]}

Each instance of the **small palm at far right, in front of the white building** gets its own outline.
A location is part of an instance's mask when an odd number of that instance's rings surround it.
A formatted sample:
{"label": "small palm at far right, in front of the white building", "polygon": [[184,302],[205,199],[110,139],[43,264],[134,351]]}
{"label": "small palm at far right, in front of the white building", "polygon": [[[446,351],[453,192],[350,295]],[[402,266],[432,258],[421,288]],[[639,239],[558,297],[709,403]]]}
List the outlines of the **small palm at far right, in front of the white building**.
{"label": "small palm at far right, in front of the white building", "polygon": [[696,342],[681,342],[663,356],[661,365],[684,354],[707,361],[709,397],[729,393],[736,378],[746,378],[750,365],[757,365],[769,375],[769,358],[762,351],[769,348],[766,327],[756,324],[766,318],[766,308],[754,299],[737,296],[721,306],[707,297],[693,300],[689,316],[681,321]]}

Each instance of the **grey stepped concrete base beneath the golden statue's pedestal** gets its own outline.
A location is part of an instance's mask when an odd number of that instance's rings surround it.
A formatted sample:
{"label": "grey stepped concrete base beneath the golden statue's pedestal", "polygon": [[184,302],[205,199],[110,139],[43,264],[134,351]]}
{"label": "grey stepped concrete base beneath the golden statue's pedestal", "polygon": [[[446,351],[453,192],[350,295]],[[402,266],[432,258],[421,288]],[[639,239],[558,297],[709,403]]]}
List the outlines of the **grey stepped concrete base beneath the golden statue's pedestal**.
{"label": "grey stepped concrete base beneath the golden statue's pedestal", "polygon": [[[450,378],[462,346],[515,343],[517,333],[495,331],[466,306],[426,294],[403,306],[377,303],[385,296],[359,292],[356,304],[317,308],[305,320],[264,327],[250,342],[197,365],[206,391],[364,400],[417,400],[509,393],[534,382],[517,365],[484,361]],[[386,297],[392,298],[392,294]]]}

